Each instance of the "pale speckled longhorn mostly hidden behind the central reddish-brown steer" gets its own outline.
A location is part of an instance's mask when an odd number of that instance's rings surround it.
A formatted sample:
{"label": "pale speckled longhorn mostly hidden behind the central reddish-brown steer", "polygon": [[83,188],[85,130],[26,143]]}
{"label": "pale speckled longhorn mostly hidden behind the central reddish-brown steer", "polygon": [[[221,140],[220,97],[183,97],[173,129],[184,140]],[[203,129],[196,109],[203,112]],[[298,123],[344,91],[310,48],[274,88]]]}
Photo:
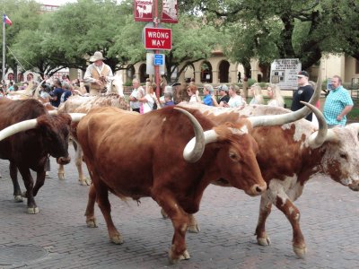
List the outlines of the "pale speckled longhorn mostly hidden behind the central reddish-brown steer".
{"label": "pale speckled longhorn mostly hidden behind the central reddish-brown steer", "polygon": [[[87,113],[91,108],[98,107],[115,107],[123,110],[128,110],[128,102],[120,95],[110,93],[100,96],[71,96],[60,105],[58,112],[66,113]],[[74,142],[74,141],[73,141]],[[75,157],[74,163],[78,171],[78,180],[81,185],[88,186],[90,182],[83,174],[83,150],[81,145],[74,142]],[[59,179],[65,179],[64,165],[59,164],[57,176]]]}

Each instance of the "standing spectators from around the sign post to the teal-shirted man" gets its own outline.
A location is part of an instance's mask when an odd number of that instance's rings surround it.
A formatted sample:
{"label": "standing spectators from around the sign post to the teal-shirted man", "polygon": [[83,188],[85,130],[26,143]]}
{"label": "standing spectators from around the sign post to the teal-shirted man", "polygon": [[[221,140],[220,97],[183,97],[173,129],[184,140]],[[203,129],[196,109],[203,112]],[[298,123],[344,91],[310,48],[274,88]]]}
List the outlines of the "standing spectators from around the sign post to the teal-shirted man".
{"label": "standing spectators from around the sign post to the teal-shirted man", "polygon": [[[309,80],[309,74],[306,71],[300,71],[297,74],[297,80],[298,89],[293,91],[293,101],[291,106],[291,110],[293,111],[298,110],[304,106],[301,101],[309,102],[311,100],[311,96],[313,95],[315,88],[315,82],[311,82]],[[140,83],[139,81],[134,81],[135,84],[133,94],[136,95],[138,94],[137,85]],[[178,85],[179,83],[176,84]],[[224,108],[244,108],[247,105],[247,101],[242,90],[237,84],[234,83],[230,85],[223,84],[218,86],[216,89],[211,84],[204,84],[201,94],[201,90],[196,86],[194,81],[191,80],[191,82],[185,85],[184,88],[182,87],[185,90],[185,96],[180,93],[181,90],[179,87],[171,87],[165,83],[163,86],[165,86],[164,95],[161,99],[157,99],[155,94],[152,93],[152,98],[148,100],[144,98],[144,92],[147,91],[141,91],[142,93],[138,96],[139,102],[136,105],[138,107],[139,113],[143,113],[140,109],[140,107],[143,106],[141,102],[152,102],[152,100],[158,100],[160,108],[163,106],[175,105],[181,101],[187,101],[189,103],[198,102],[207,106]],[[324,107],[322,109],[323,115],[329,127],[345,126],[346,115],[351,111],[354,105],[353,100],[351,99],[346,89],[343,88],[342,80],[339,76],[333,76],[331,79],[331,88],[332,89],[329,91],[328,97],[326,98]],[[266,98],[267,102],[263,95],[262,87],[258,83],[254,83],[250,87],[250,95],[252,97],[249,102],[250,105],[267,105],[270,107],[286,108],[285,99],[282,95],[281,89],[277,84],[268,84]],[[218,96],[218,99],[216,96]],[[320,108],[320,101],[317,102],[316,106],[317,108]],[[133,110],[137,111],[136,108],[133,108]],[[151,109],[146,109],[145,112],[150,110]],[[317,118],[312,115],[312,113],[308,115],[306,119],[312,121],[315,125],[318,125]]]}

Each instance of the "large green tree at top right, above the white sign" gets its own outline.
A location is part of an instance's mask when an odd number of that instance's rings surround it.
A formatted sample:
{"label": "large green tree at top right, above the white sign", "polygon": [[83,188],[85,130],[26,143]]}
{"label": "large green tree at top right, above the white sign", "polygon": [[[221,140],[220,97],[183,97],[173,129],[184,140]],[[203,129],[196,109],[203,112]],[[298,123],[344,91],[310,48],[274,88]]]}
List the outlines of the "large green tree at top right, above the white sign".
{"label": "large green tree at top right, above the white sign", "polygon": [[[293,57],[301,60],[303,69],[317,63],[324,53],[344,51],[350,24],[342,16],[353,13],[351,25],[356,30],[358,11],[354,5],[358,5],[355,0],[180,1],[188,13],[201,11],[207,18],[223,22],[220,27],[228,28],[232,37],[232,45],[225,51],[234,60],[243,63],[257,57],[261,63],[269,63]],[[333,32],[341,32],[343,39]],[[353,47],[357,45],[356,40]]]}

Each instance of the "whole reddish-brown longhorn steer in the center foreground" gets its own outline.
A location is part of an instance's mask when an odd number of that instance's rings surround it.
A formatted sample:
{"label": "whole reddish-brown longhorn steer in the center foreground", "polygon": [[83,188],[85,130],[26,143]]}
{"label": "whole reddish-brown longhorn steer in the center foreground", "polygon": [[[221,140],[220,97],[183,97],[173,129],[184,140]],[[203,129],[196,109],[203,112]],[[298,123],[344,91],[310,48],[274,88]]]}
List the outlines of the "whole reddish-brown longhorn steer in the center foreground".
{"label": "whole reddish-brown longhorn steer in the center foreground", "polygon": [[[198,211],[211,182],[225,178],[249,195],[259,195],[267,188],[258,171],[257,144],[248,134],[251,128],[288,122],[298,115],[251,117],[235,125],[216,125],[196,109],[188,110],[193,115],[181,109],[183,115],[171,107],[144,115],[118,108],[93,108],[76,132],[92,178],[85,213],[88,225],[96,226],[96,201],[109,239],[121,244],[122,237],[110,216],[108,191],[135,200],[151,196],[170,216],[174,227],[171,263],[189,258],[185,244],[188,213]],[[189,128],[188,118],[195,132]],[[194,134],[196,139],[190,140]],[[227,167],[220,165],[223,162]]]}

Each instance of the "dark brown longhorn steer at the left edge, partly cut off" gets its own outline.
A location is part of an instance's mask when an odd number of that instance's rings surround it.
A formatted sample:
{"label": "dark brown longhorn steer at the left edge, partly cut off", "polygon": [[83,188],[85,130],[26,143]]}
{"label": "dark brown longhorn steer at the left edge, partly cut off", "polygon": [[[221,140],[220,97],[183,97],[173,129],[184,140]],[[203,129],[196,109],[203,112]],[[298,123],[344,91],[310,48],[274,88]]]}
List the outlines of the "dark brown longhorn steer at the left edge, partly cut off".
{"label": "dark brown longhorn steer at the left edge, partly cut off", "polygon": [[[70,161],[67,152],[68,135],[72,117],[68,114],[49,116],[38,100],[9,100],[0,98],[0,158],[10,161],[13,195],[22,201],[17,179],[19,169],[26,187],[28,213],[39,213],[34,196],[45,180],[48,155],[58,163]],[[27,132],[22,132],[28,130]],[[34,186],[30,169],[37,172]]]}

